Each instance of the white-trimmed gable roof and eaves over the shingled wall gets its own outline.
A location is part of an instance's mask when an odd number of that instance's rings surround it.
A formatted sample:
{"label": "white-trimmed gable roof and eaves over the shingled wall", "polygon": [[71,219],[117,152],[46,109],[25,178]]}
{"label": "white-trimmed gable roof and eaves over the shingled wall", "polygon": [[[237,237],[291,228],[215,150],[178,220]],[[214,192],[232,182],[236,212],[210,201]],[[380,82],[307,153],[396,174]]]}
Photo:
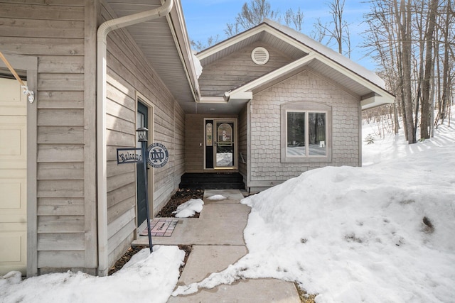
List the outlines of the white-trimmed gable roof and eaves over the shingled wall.
{"label": "white-trimmed gable roof and eaves over the shingled wall", "polygon": [[[395,99],[385,89],[383,80],[374,72],[316,42],[309,36],[268,19],[255,28],[203,50],[197,56],[204,66],[257,41],[267,43],[295,60],[240,87],[232,87],[229,92],[225,92],[226,103],[232,101],[241,106],[242,103],[248,101],[247,98],[252,96],[252,93],[266,89],[305,68],[318,71],[323,76],[341,84],[348,92],[358,95],[362,109],[392,103]],[[215,101],[214,98],[211,99]],[[200,101],[204,101],[204,97]],[[210,102],[210,98],[207,98],[207,101]],[[220,100],[217,102],[221,104]]]}

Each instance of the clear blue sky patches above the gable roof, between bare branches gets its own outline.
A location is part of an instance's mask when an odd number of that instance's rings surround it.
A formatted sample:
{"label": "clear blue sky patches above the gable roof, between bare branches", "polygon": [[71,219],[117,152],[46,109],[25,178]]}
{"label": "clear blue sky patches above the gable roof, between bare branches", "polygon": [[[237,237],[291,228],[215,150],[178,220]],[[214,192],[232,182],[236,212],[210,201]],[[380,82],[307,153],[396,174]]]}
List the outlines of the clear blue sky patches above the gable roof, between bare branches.
{"label": "clear blue sky patches above the gable roof, between bare branches", "polygon": [[[233,23],[235,16],[242,9],[242,5],[250,0],[181,0],[183,13],[185,15],[186,28],[192,40],[200,40],[206,43],[210,36],[219,35],[218,42],[227,37],[224,33],[226,23]],[[314,23],[317,18],[321,21],[331,21],[328,12],[328,1],[325,0],[269,0],[273,10],[284,13],[287,9],[297,9],[300,7],[304,13],[304,24],[302,33],[311,35],[314,30]],[[353,53],[351,59],[358,62],[370,70],[375,69],[373,60],[365,57],[366,50],[360,48],[363,38],[360,33],[365,31],[366,26],[363,21],[363,14],[368,13],[370,4],[364,0],[346,0],[344,18],[350,23],[351,44]],[[335,45],[328,45],[336,48]]]}

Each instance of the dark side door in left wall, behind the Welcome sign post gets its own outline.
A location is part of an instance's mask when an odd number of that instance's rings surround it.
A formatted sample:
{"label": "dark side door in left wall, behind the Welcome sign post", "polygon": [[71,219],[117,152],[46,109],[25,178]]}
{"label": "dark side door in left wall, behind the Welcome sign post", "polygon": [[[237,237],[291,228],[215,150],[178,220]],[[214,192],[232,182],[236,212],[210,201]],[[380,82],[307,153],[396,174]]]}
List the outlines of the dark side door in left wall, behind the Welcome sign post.
{"label": "dark side door in left wall, behind the Welcome sign post", "polygon": [[[147,106],[137,102],[137,128],[149,126],[149,111]],[[141,148],[141,143],[137,143],[137,148]],[[144,163],[138,163],[137,174],[137,226],[140,226],[147,218],[146,199],[145,199],[145,178]]]}

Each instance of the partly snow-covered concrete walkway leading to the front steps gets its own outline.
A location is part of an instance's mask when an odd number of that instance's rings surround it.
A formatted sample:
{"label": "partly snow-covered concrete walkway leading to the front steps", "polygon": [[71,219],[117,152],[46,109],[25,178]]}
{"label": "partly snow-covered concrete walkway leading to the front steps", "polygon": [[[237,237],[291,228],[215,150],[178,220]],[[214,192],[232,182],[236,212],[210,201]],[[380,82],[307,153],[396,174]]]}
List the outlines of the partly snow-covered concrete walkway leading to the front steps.
{"label": "partly snow-covered concrete walkway leading to the front steps", "polygon": [[[227,199],[210,200],[223,195]],[[247,225],[250,207],[240,204],[243,195],[238,189],[206,189],[204,207],[199,218],[179,219],[171,237],[153,237],[159,245],[192,245],[178,285],[200,282],[212,272],[219,272],[247,254],[243,229]],[[134,241],[134,245],[148,246],[147,237]],[[218,285],[196,294],[170,297],[173,302],[295,302],[299,294],[291,282],[275,279],[240,280],[232,285]]]}

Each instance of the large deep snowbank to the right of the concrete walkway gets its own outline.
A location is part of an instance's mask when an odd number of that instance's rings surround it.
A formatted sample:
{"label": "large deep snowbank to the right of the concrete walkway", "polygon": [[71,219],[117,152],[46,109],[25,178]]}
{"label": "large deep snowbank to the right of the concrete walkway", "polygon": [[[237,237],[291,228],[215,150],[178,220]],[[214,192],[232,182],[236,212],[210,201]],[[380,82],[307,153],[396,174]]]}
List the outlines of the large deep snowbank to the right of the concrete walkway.
{"label": "large deep snowbank to the right of the concrete walkway", "polygon": [[243,199],[249,253],[173,295],[275,277],[316,302],[452,302],[454,139],[368,167],[310,170]]}

